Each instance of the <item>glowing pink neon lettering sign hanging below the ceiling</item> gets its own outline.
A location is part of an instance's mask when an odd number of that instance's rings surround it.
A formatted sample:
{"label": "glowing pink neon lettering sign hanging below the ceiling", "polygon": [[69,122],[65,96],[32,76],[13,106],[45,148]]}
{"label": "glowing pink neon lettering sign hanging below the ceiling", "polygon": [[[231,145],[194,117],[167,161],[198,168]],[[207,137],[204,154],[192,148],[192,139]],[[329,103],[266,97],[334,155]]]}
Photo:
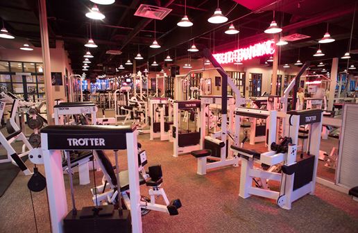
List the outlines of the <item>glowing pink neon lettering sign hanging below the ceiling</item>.
{"label": "glowing pink neon lettering sign hanging below the ceiling", "polygon": [[213,56],[219,64],[228,64],[251,60],[263,55],[272,55],[273,53],[275,53],[275,42],[273,42],[273,40],[268,40],[266,42],[250,45],[246,48],[228,51],[226,53],[215,53]]}

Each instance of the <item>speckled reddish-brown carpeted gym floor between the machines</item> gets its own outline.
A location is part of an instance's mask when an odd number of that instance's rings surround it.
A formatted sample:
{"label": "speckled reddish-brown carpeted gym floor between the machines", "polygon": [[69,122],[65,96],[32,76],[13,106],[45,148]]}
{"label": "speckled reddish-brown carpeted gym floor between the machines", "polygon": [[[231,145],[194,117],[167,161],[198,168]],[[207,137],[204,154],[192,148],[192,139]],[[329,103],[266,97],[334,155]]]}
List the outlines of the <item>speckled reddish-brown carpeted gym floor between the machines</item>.
{"label": "speckled reddish-brown carpeted gym floor between the machines", "polygon": [[[139,142],[147,151],[149,164],[162,164],[163,187],[169,199],[180,198],[183,205],[178,216],[153,211],[144,216],[146,233],[358,232],[358,202],[346,194],[317,184],[315,196],[294,202],[289,211],[280,209],[272,200],[238,196],[239,167],[196,175],[196,159],[191,155],[173,157],[171,142],[149,141],[148,135],[139,135]],[[119,157],[124,169],[125,153]],[[96,177],[99,182],[101,173],[97,172]],[[0,232],[35,232],[28,179],[19,173],[0,198]],[[93,184],[80,186],[77,174],[74,179],[77,206],[91,205],[89,189]],[[68,186],[67,175],[65,182]],[[142,187],[142,194],[147,195],[146,187]],[[33,193],[33,200],[39,232],[50,232],[46,192]],[[67,200],[70,204],[70,198]]]}

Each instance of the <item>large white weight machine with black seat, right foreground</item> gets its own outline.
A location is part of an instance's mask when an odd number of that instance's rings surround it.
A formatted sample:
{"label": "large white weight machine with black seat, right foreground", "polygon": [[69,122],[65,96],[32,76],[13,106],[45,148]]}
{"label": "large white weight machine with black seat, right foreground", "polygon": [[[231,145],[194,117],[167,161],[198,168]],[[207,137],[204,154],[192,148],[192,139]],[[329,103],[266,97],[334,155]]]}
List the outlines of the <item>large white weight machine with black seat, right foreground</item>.
{"label": "large white weight machine with black seat, right foreground", "polygon": [[[271,129],[275,128],[273,121],[276,112],[257,112],[257,110],[237,108],[235,114],[254,117],[269,117],[271,114]],[[237,156],[241,157],[241,174],[239,196],[248,198],[251,195],[262,196],[276,200],[284,209],[291,209],[293,201],[306,194],[314,194],[316,184],[316,171],[318,164],[319,146],[321,141],[322,110],[300,110],[287,112],[285,127],[287,134],[278,143],[275,143],[275,132],[269,133],[269,151],[259,153],[255,150],[231,146]],[[309,146],[307,155],[299,157],[298,132],[300,126],[309,124]],[[257,169],[254,163],[261,164],[262,169]],[[282,173],[267,171],[269,166],[282,165]],[[261,180],[253,187],[253,180]],[[272,191],[265,182],[275,180],[280,182],[280,191]]]}

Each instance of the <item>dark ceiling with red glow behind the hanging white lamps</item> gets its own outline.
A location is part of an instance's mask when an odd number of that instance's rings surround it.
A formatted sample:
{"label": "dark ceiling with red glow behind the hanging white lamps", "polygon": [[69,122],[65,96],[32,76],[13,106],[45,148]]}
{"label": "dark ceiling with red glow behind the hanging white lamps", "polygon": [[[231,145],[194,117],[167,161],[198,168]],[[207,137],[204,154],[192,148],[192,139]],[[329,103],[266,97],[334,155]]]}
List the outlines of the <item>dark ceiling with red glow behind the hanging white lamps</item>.
{"label": "dark ceiling with red glow behind the hanging white lamps", "polygon": [[[160,49],[150,49],[153,42],[154,21],[144,17],[134,16],[141,3],[170,8],[171,12],[163,20],[156,21],[157,41],[162,45]],[[117,0],[110,6],[99,5],[105,15],[103,21],[94,21],[85,17],[85,13],[92,7],[89,0],[48,0],[47,15],[49,20],[50,46],[56,46],[55,40],[63,40],[65,49],[69,52],[71,67],[76,73],[82,69],[83,55],[86,51],[85,42],[89,37],[89,25],[92,28],[94,42],[99,45],[91,49],[92,65],[90,71],[103,67],[118,67],[128,58],[133,60],[138,52],[144,56],[142,62],[155,60],[163,64],[164,57],[169,53],[174,58],[186,58],[187,49],[192,40],[199,49],[210,47],[215,51],[227,51],[237,46],[237,35],[226,35],[230,21],[240,29],[240,45],[270,38],[263,33],[269,26],[276,12],[276,21],[284,29],[283,35],[300,33],[309,35],[305,40],[291,42],[282,47],[280,64],[293,63],[298,59],[321,61],[312,55],[318,48],[318,40],[323,37],[329,24],[330,34],[336,42],[323,44],[321,49],[326,54],[323,61],[330,64],[330,58],[341,57],[348,50],[352,17],[355,1],[352,0],[222,0],[219,6],[229,21],[221,25],[207,22],[216,8],[215,0],[187,0],[187,15],[194,26],[180,28],[176,23],[184,14],[184,0]],[[19,17],[21,15],[21,17]],[[24,37],[33,46],[41,46],[40,25],[35,0],[0,0],[0,17],[8,31],[17,37]],[[358,17],[355,18],[355,28],[358,27]],[[350,64],[358,66],[358,30],[353,31]],[[108,55],[105,51],[120,50],[121,55]],[[191,58],[201,58],[201,53],[191,54]],[[266,58],[262,58],[262,63]],[[175,62],[175,61],[174,61]],[[339,60],[340,69],[347,67],[347,60]],[[327,68],[327,67],[326,67]],[[158,67],[157,69],[161,69]],[[126,66],[126,71],[133,71],[133,67]]]}

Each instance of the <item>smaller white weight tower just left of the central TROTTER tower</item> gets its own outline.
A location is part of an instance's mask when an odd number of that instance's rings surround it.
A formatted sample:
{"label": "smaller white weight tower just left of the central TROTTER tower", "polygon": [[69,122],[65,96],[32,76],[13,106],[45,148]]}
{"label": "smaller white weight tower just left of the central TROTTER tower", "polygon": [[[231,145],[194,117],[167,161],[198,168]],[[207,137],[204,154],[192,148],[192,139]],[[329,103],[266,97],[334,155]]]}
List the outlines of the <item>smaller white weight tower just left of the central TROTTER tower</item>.
{"label": "smaller white weight tower just left of the central TROTTER tower", "polygon": [[[173,103],[169,98],[149,98],[150,139],[171,139],[173,125]],[[165,118],[167,117],[167,121]]]}

